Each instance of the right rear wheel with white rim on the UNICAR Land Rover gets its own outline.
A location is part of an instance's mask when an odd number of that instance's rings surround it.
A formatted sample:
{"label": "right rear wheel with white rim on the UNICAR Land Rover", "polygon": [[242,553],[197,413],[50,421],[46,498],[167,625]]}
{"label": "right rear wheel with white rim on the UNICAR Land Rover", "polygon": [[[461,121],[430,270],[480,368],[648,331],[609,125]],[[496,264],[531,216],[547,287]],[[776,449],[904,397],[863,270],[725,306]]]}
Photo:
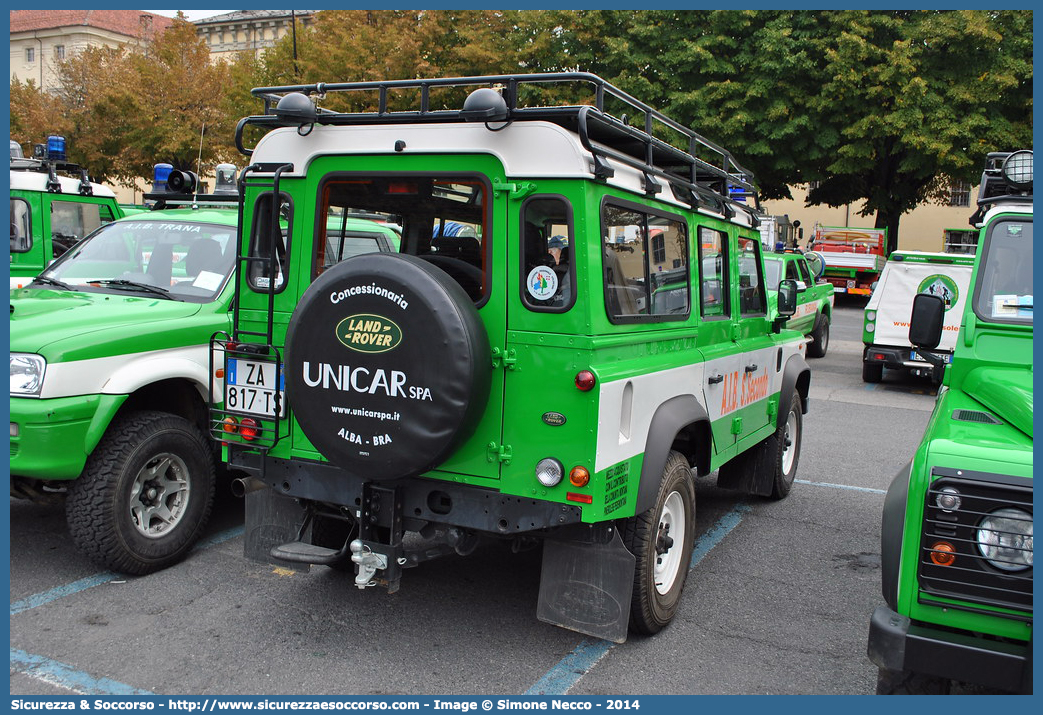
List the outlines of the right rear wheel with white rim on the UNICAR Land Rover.
{"label": "right rear wheel with white rim on the UNICAR Land Rover", "polygon": [[[623,543],[637,560],[630,601],[632,632],[658,633],[677,614],[692,561],[695,526],[696,486],[692,468],[683,455],[672,451],[655,504],[644,514],[623,520],[620,526]],[[665,549],[664,552],[659,553],[657,547]],[[657,575],[664,580],[662,586],[656,586]]]}

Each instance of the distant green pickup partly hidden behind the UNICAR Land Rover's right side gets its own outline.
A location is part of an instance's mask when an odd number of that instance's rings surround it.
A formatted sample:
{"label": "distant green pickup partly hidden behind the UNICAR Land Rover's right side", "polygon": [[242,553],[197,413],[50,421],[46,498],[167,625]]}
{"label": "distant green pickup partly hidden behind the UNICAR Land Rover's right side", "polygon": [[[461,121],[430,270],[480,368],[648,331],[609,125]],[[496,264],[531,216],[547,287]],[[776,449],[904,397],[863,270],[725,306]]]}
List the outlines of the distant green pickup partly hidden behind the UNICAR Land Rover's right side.
{"label": "distant green pickup partly hidden behind the UNICAR Land Rover's right side", "polygon": [[779,281],[797,281],[797,312],[785,326],[811,339],[808,358],[825,358],[829,348],[829,323],[833,317],[833,286],[822,280],[825,263],[817,253],[786,250],[768,252],[765,257],[765,283],[768,287],[769,311],[774,311]]}

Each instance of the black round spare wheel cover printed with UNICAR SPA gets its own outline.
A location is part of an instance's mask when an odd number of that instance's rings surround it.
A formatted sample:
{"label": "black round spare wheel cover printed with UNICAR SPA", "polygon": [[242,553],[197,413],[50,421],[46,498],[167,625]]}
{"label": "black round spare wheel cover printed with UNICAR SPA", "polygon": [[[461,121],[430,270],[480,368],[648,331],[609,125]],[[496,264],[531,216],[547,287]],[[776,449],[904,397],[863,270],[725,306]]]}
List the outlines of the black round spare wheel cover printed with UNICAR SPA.
{"label": "black round spare wheel cover printed with UNICAR SPA", "polygon": [[368,253],[313,282],[286,335],[287,400],[322,455],[366,479],[437,467],[489,396],[485,326],[463,289],[412,255]]}

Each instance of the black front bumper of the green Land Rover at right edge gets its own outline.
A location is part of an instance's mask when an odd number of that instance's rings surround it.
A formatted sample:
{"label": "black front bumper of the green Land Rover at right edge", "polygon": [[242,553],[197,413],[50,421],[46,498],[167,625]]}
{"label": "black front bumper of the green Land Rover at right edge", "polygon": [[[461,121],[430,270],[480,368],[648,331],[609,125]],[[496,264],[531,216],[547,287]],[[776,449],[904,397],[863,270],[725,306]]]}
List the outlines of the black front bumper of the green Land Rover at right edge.
{"label": "black front bumper of the green Land Rover at right edge", "polygon": [[991,641],[914,623],[887,606],[877,607],[869,624],[869,660],[880,668],[1008,692],[1032,692],[1030,654],[1030,643]]}

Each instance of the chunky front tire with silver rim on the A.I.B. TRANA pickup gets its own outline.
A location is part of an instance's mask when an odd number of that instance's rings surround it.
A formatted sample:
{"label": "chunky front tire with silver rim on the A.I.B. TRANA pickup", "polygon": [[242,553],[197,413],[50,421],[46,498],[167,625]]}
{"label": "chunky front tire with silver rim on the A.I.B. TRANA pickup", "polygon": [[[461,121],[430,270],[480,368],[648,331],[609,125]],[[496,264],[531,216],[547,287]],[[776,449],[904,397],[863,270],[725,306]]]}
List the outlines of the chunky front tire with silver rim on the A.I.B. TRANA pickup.
{"label": "chunky front tire with silver rim on the A.I.B. TRANA pickup", "polygon": [[[215,479],[210,440],[196,425],[162,412],[126,413],[113,421],[69,489],[69,532],[76,547],[105,568],[159,571],[184,559],[199,539]],[[172,521],[164,526],[167,516]],[[138,524],[156,535],[146,536]]]}

